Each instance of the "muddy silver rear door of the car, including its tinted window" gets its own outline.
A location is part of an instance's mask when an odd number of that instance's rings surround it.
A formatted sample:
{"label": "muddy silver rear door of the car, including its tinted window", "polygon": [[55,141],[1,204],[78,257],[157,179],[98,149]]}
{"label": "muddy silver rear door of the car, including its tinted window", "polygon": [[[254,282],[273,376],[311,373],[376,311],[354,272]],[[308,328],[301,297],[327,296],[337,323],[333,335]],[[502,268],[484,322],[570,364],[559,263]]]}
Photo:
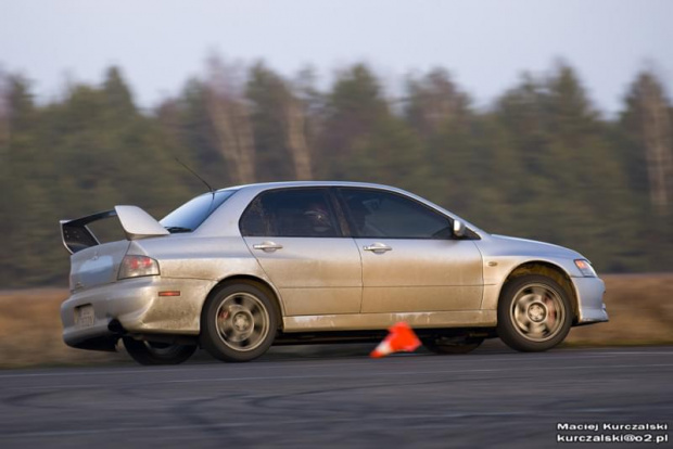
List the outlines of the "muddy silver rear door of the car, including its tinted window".
{"label": "muddy silver rear door of the car, including its tinted window", "polygon": [[359,312],[360,255],[342,222],[327,188],[266,191],[241,216],[241,234],[288,316]]}

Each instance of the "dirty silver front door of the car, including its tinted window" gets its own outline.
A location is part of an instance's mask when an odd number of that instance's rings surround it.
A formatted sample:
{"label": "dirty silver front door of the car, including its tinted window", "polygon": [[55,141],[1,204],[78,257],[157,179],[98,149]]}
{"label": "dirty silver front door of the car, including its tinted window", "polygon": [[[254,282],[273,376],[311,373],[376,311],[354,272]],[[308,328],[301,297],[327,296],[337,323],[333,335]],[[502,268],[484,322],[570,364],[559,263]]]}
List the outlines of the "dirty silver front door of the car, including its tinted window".
{"label": "dirty silver front door of the car, including its tinted window", "polygon": [[480,308],[482,257],[450,218],[390,191],[338,191],[363,259],[363,313]]}

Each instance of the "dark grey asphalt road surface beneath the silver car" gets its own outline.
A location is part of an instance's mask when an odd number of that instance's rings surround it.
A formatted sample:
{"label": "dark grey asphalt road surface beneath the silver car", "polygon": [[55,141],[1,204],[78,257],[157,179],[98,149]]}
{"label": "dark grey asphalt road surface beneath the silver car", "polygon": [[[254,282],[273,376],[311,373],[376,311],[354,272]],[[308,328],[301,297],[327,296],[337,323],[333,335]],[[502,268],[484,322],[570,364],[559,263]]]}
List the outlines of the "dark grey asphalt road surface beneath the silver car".
{"label": "dark grey asphalt road surface beneath the silver car", "polygon": [[[559,434],[668,435],[668,444],[618,447],[673,445],[673,347],[285,355],[4,371],[0,385],[1,448],[569,446]],[[570,432],[558,423],[669,429]]]}

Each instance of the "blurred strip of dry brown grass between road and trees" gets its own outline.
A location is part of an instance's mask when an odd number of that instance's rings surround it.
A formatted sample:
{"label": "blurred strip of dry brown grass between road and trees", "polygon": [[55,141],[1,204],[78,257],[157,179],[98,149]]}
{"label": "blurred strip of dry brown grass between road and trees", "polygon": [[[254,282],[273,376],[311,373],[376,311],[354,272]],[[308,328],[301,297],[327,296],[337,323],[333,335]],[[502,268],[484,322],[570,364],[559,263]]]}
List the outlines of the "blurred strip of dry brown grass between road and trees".
{"label": "blurred strip of dry brown grass between road and trees", "polygon": [[[673,344],[673,273],[606,275],[610,322],[575,328],[570,345]],[[128,362],[125,354],[72,349],[61,338],[67,291],[0,292],[0,368]]]}

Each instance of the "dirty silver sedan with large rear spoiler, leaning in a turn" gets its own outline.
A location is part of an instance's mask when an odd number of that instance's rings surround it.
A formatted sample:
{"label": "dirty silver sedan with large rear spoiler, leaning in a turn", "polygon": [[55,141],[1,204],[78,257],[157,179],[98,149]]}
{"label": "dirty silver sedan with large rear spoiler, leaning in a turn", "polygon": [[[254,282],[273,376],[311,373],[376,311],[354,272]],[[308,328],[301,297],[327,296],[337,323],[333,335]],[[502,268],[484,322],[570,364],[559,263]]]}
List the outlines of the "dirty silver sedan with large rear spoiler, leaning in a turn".
{"label": "dirty silver sedan with large rear spoiler, leaning in a turn", "polygon": [[[116,217],[126,240],[87,224]],[[560,246],[493,235],[399,189],[282,182],[196,196],[156,221],[135,206],[61,221],[63,337],[143,364],[201,346],[226,361],[272,344],[365,342],[406,321],[435,352],[500,337],[522,351],[608,321],[604,282]]]}

